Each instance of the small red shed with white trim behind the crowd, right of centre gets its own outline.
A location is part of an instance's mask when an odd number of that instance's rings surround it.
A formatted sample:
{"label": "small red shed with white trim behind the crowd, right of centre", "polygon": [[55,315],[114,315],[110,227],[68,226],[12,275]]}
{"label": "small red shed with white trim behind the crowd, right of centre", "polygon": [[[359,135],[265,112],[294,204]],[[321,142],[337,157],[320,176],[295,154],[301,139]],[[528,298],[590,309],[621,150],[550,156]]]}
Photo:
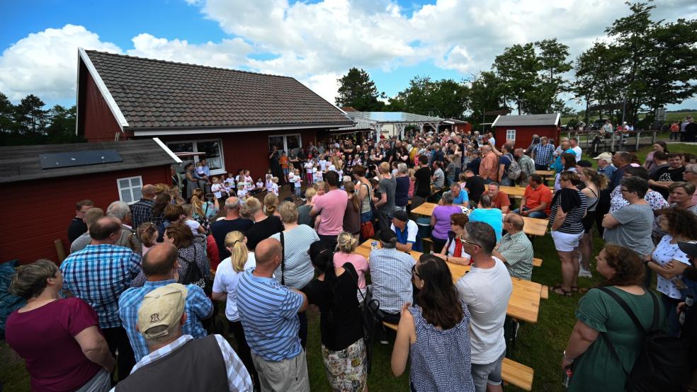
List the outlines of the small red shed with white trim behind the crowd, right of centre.
{"label": "small red shed with white trim behind the crowd, right of centre", "polygon": [[533,142],[533,134],[559,141],[560,113],[549,115],[499,115],[492,122],[497,145],[507,139],[515,140],[516,148],[527,149]]}

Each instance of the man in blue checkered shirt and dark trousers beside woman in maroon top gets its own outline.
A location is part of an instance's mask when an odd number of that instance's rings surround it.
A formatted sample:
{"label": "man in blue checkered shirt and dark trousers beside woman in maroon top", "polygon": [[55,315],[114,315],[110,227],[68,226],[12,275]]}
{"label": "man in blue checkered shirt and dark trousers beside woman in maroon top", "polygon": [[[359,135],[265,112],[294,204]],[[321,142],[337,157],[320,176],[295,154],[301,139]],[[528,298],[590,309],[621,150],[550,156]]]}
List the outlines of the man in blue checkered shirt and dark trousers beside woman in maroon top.
{"label": "man in blue checkered shirt and dark trousers beside woman in maroon top", "polygon": [[121,221],[116,218],[98,219],[90,226],[89,235],[91,243],[60,265],[63,289],[96,311],[111,354],[118,350],[118,379],[123,380],[130,374],[135,358],[118,318],[118,297],[140,272],[140,255],[114,245],[121,236]]}

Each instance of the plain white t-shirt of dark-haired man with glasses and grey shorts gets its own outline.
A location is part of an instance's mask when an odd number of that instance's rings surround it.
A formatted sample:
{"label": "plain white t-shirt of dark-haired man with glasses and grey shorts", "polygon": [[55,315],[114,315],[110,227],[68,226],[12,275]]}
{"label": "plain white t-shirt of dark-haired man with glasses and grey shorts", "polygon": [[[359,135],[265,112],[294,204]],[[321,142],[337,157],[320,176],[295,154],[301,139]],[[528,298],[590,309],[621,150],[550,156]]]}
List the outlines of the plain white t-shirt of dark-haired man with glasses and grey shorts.
{"label": "plain white t-shirt of dark-haired man with glasses and grey shorts", "polygon": [[482,269],[472,265],[458,280],[460,299],[470,311],[472,363],[490,364],[506,351],[504,321],[513,283],[504,262],[492,256],[496,265]]}

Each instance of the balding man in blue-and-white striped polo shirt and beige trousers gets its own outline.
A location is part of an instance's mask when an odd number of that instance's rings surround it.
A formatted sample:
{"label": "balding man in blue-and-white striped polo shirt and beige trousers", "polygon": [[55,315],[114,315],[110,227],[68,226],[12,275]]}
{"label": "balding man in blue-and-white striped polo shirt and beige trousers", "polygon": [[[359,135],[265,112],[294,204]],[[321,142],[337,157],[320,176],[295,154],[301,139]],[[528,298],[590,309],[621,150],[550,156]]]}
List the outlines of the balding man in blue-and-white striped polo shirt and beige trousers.
{"label": "balding man in blue-and-white striped polo shirt and beige trousers", "polygon": [[273,278],[281,251],[276,238],[257,244],[256,267],[239,278],[237,311],[261,391],[310,391],[305,350],[297,335],[297,313],[307,308],[307,296]]}

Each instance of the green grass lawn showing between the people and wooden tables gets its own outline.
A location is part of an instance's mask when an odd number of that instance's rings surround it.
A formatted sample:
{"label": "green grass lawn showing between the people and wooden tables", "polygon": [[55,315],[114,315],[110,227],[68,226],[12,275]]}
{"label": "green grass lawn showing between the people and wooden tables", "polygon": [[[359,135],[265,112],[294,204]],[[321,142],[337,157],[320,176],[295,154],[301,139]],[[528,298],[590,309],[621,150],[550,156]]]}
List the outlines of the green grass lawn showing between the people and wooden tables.
{"label": "green grass lawn showing between the people and wooden tables", "polygon": [[[688,144],[671,144],[671,151],[697,152],[697,146]],[[651,151],[647,146],[638,153],[640,159],[644,159]],[[559,258],[554,248],[552,238],[548,234],[542,238],[536,238],[533,246],[535,256],[543,259],[542,267],[533,270],[533,281],[547,286],[553,286],[561,282]],[[595,238],[594,255],[603,246],[600,238]],[[591,260],[591,270],[594,278],[580,278],[580,287],[592,287],[600,282],[595,272],[595,261]],[[540,304],[540,313],[537,323],[522,323],[518,333],[516,349],[511,359],[535,370],[533,391],[562,391],[561,357],[566,347],[576,319],[574,311],[577,301],[582,294],[574,294],[572,298],[566,298],[550,294],[549,299],[543,299]],[[329,391],[327,376],[324,374],[322,353],[319,340],[319,317],[317,313],[308,311],[310,336],[307,345],[307,366],[310,372],[310,386],[312,391]],[[373,357],[373,372],[368,379],[368,386],[372,391],[409,391],[407,374],[396,378],[390,371],[391,345],[376,345]],[[5,391],[29,391],[29,378],[21,359],[9,350],[2,342],[0,344],[0,383]],[[443,364],[448,366],[448,364]],[[506,390],[514,391],[517,388],[507,386]]]}

